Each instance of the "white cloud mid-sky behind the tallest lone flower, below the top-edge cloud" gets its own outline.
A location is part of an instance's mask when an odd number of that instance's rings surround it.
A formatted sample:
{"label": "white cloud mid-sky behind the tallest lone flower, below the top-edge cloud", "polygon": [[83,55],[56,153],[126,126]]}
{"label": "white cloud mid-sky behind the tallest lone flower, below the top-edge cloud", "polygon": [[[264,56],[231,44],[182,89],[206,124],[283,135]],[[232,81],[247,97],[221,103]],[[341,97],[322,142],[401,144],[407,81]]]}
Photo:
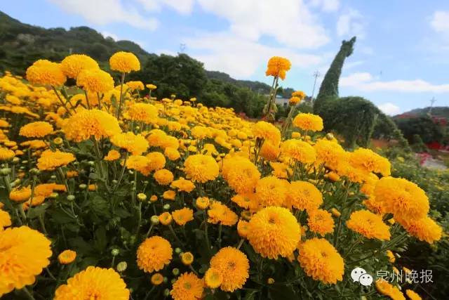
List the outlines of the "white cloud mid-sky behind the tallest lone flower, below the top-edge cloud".
{"label": "white cloud mid-sky behind the tallest lone flower, below the top-edge cloud", "polygon": [[201,60],[207,70],[227,72],[232,77],[248,78],[272,56],[288,58],[294,67],[311,67],[322,63],[321,56],[298,53],[290,48],[265,46],[230,32],[203,33],[183,41],[189,55]]}

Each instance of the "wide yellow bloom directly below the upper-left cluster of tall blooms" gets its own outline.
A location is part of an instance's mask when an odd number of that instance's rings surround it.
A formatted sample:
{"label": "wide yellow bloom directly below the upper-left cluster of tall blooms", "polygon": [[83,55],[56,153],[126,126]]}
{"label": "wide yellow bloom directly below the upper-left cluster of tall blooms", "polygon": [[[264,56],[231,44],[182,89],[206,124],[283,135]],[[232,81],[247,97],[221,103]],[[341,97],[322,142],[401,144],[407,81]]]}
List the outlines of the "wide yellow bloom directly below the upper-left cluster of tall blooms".
{"label": "wide yellow bloom directly below the upper-left cluster of tall blooms", "polygon": [[66,138],[77,143],[86,141],[91,136],[96,140],[108,138],[121,133],[119,122],[115,117],[102,110],[81,110],[69,117],[62,126]]}

